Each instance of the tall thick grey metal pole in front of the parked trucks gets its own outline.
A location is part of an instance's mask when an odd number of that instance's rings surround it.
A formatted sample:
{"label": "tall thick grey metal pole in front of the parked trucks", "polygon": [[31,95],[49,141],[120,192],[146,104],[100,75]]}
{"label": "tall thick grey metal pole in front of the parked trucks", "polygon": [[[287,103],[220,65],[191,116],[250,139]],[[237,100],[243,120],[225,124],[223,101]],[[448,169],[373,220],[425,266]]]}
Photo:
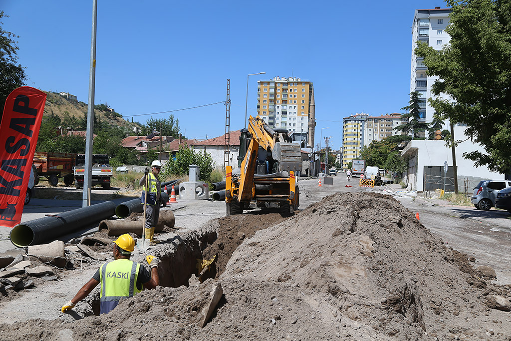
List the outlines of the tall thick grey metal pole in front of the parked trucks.
{"label": "tall thick grey metal pole in front of the parked trucks", "polygon": [[92,137],[94,136],[94,91],[96,84],[96,22],[98,0],[92,0],[92,39],[90,42],[89,102],[87,106],[87,132],[85,134],[85,174],[83,177],[82,207],[90,205],[92,183]]}

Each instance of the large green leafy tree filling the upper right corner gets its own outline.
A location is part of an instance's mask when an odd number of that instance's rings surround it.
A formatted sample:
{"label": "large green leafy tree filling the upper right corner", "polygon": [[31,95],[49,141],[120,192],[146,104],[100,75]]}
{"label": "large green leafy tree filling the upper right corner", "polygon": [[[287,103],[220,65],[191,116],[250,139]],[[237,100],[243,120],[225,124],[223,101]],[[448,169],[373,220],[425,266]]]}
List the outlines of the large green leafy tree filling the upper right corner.
{"label": "large green leafy tree filling the upper right corner", "polygon": [[428,75],[438,76],[430,99],[443,119],[467,124],[466,135],[484,152],[463,153],[476,166],[505,173],[511,165],[511,2],[447,0],[452,8],[446,32],[451,40],[441,51],[419,43]]}

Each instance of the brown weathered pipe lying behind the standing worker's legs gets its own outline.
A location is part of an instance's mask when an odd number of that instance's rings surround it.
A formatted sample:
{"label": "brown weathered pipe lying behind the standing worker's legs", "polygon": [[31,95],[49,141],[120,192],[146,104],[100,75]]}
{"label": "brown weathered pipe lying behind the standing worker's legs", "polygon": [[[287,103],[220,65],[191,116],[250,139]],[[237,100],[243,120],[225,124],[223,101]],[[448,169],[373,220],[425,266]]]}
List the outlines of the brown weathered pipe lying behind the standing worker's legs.
{"label": "brown weathered pipe lying behind the standing worker's legs", "polygon": [[[136,219],[103,220],[99,223],[99,231],[107,230],[109,236],[120,236],[124,233],[134,233],[140,237],[142,236],[143,219],[144,218],[140,216],[136,217]],[[161,210],[154,232],[160,233],[163,231],[165,226],[173,228],[174,223],[174,213],[171,210]]]}

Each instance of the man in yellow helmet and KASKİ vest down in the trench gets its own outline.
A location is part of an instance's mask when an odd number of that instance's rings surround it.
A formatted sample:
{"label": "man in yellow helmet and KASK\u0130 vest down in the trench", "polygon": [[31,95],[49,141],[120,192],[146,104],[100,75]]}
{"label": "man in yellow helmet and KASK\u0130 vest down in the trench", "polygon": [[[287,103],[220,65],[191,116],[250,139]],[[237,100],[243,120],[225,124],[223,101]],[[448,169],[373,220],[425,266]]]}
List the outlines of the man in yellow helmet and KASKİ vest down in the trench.
{"label": "man in yellow helmet and KASK\u0130 vest down in the trench", "polygon": [[146,257],[147,263],[151,267],[151,272],[149,272],[141,264],[129,260],[135,247],[135,241],[130,235],[119,236],[112,245],[115,260],[101,265],[96,274],[78,291],[75,297],[62,306],[62,312],[73,309],[100,283],[100,314],[108,313],[119,304],[122,298],[132,297],[141,292],[143,287],[154,289],[159,285],[158,259],[156,257]]}

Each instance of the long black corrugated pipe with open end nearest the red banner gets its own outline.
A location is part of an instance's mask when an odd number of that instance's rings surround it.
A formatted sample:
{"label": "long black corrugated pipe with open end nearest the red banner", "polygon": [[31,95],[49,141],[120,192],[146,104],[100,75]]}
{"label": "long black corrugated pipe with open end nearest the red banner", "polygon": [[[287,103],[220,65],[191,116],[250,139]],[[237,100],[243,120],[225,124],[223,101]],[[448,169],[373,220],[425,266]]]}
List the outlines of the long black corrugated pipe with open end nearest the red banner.
{"label": "long black corrugated pipe with open end nearest the red banner", "polygon": [[100,202],[56,215],[26,221],[17,224],[11,230],[11,242],[18,246],[42,244],[58,237],[80,230],[81,228],[110,218],[115,214],[115,203]]}

